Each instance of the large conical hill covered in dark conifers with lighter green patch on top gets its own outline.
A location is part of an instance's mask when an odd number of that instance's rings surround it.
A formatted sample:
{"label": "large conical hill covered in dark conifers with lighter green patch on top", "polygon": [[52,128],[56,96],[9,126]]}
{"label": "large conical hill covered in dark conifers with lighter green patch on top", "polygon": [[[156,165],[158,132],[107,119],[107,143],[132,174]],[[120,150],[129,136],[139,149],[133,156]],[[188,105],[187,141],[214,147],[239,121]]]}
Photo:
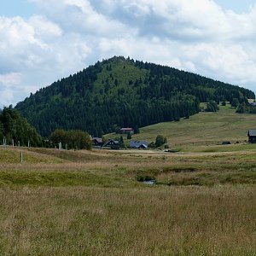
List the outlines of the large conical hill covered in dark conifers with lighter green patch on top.
{"label": "large conical hill covered in dark conifers with lighter green patch on top", "polygon": [[254,93],[194,73],[113,57],[58,80],[15,108],[44,137],[56,128],[94,136],[114,126],[145,126],[189,117],[207,100],[247,102]]}

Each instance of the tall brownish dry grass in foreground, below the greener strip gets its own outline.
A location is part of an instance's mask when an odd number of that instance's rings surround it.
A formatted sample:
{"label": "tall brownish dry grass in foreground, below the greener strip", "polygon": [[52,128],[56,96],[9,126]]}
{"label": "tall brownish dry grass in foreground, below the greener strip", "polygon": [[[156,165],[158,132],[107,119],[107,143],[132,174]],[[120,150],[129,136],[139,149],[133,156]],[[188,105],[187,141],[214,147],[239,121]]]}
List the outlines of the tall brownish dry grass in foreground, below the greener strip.
{"label": "tall brownish dry grass in foreground, below the greener strip", "polygon": [[9,255],[254,255],[255,187],[0,190]]}

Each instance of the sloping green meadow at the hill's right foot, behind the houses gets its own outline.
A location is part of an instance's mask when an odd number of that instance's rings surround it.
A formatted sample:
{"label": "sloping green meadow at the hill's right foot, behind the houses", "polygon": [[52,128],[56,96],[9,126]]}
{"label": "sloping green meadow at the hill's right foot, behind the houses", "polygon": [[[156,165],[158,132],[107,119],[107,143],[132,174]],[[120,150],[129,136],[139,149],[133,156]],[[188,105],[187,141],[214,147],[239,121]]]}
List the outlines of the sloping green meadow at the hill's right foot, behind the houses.
{"label": "sloping green meadow at the hill's right foot, behind the houses", "polygon": [[[160,134],[167,138],[171,148],[212,145],[223,141],[247,142],[247,131],[256,129],[256,114],[236,113],[229,104],[219,108],[217,113],[200,112],[189,119],[180,119],[179,122],[143,127],[140,129],[140,134],[133,135],[132,139],[147,140],[150,143]],[[119,135],[108,134],[106,137],[119,137]]]}

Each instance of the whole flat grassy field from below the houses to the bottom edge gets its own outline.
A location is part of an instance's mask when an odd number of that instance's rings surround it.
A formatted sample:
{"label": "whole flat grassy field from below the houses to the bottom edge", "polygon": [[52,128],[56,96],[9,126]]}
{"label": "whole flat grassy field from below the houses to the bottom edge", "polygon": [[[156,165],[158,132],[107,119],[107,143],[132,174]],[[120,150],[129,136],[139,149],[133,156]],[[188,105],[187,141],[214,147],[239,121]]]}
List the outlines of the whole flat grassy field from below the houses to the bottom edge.
{"label": "whole flat grassy field from below the houses to the bottom edge", "polygon": [[256,255],[256,146],[187,149],[1,148],[1,254]]}

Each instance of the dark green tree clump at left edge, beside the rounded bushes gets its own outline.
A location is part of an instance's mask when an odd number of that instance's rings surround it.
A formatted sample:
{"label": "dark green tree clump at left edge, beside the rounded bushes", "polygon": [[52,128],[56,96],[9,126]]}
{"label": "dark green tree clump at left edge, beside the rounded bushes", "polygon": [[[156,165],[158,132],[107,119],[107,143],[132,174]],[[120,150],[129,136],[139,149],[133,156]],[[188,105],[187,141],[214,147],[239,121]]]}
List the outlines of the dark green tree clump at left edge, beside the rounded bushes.
{"label": "dark green tree clump at left edge, beside the rounded bushes", "polygon": [[6,139],[7,144],[11,144],[14,140],[15,145],[28,145],[28,142],[33,147],[43,145],[43,139],[38,134],[32,125],[29,125],[25,118],[20,116],[20,113],[12,108],[3,108],[0,112],[0,140],[3,142]]}

